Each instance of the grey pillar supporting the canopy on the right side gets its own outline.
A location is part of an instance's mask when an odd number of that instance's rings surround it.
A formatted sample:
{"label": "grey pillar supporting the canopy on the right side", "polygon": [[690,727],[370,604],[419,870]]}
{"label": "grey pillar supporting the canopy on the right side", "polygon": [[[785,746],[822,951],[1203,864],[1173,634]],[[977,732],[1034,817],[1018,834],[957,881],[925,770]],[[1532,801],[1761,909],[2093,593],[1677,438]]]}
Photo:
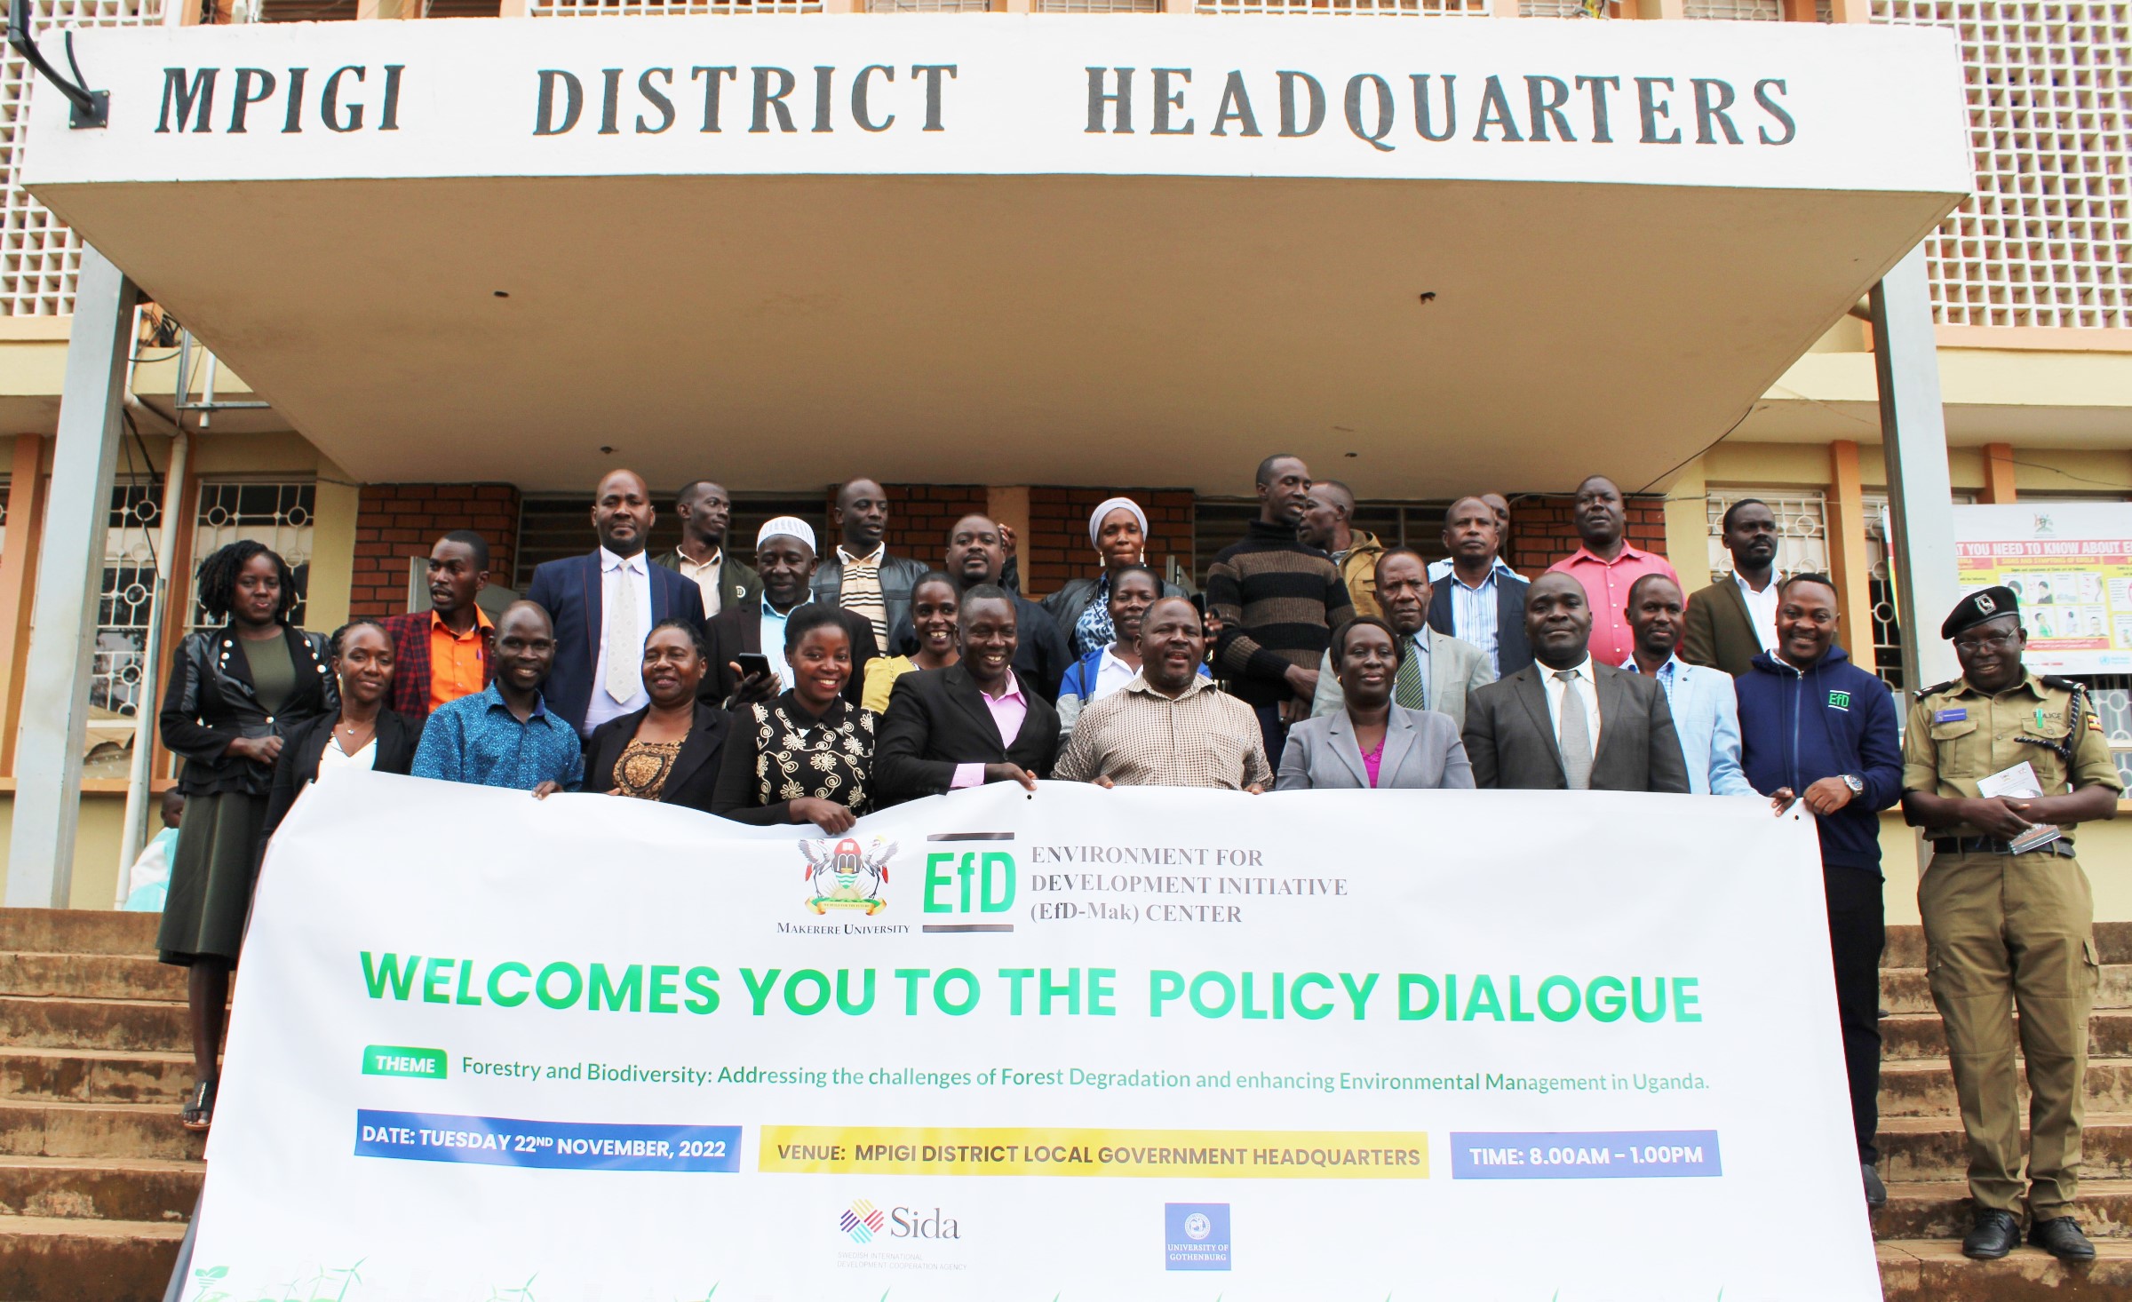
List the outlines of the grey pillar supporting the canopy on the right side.
{"label": "grey pillar supporting the canopy on the right side", "polygon": [[1872,288],[1874,375],[1880,384],[1880,454],[1887,458],[1889,569],[1902,620],[1908,690],[1959,673],[1940,620],[1955,607],[1955,490],[1947,473],[1940,352],[1932,286],[1919,245]]}

